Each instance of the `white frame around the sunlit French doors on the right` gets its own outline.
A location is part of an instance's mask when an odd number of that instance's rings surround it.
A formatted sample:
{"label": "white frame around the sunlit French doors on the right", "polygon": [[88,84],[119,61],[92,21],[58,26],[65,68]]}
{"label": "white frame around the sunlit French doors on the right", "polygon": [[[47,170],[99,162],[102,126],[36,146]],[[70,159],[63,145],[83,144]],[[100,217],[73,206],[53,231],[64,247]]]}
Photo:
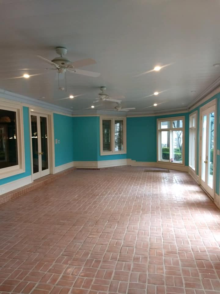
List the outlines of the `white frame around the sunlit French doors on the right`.
{"label": "white frame around the sunlit French doors on the right", "polygon": [[199,183],[201,185],[201,175],[202,175],[202,129],[203,129],[203,121],[202,121],[202,112],[212,106],[215,106],[215,126],[214,126],[214,154],[213,154],[213,171],[214,171],[214,178],[213,178],[213,195],[210,195],[211,198],[214,197],[215,195],[215,190],[216,190],[216,148],[217,148],[217,140],[216,140],[216,134],[217,134],[217,123],[218,123],[218,118],[217,118],[217,99],[213,99],[211,102],[205,104],[204,106],[200,107],[199,110],[199,115],[200,115],[200,131],[199,131],[199,142],[200,142],[200,147],[199,147]]}

